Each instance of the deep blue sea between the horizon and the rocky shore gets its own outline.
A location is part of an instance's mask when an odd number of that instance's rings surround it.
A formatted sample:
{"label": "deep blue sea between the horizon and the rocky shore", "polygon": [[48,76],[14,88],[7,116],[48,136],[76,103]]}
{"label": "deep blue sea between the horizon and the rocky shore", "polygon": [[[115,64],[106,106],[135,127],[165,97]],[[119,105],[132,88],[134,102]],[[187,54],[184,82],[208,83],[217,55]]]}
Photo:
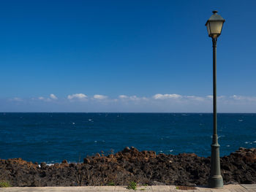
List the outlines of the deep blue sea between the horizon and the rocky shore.
{"label": "deep blue sea between the horizon and the rocky shore", "polygon": [[[256,147],[256,114],[218,114],[220,155]],[[0,113],[0,158],[83,161],[126,146],[211,155],[210,113]]]}

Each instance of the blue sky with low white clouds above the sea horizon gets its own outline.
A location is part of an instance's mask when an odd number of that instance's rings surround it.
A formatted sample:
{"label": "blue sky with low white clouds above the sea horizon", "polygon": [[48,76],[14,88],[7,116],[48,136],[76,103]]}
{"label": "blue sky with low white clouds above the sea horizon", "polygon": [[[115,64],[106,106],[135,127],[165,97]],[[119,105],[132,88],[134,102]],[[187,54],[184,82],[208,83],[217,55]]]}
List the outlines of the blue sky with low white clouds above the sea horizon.
{"label": "blue sky with low white clouds above the sea horizon", "polygon": [[256,1],[1,1],[1,112],[256,112]]}

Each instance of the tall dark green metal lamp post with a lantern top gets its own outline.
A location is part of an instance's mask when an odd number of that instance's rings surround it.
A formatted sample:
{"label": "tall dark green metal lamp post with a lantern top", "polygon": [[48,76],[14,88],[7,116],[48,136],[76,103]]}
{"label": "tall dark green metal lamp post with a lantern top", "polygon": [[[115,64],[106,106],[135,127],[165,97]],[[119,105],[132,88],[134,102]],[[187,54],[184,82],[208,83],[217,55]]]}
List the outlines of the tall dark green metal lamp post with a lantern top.
{"label": "tall dark green metal lamp post with a lantern top", "polygon": [[216,96],[216,45],[217,37],[222,33],[222,25],[225,20],[217,15],[217,11],[213,11],[213,15],[206,22],[208,36],[212,39],[213,47],[213,110],[214,110],[214,132],[211,143],[211,174],[208,179],[208,186],[210,188],[222,188],[223,179],[220,174],[220,162],[219,162],[219,143],[217,135],[217,96]]}

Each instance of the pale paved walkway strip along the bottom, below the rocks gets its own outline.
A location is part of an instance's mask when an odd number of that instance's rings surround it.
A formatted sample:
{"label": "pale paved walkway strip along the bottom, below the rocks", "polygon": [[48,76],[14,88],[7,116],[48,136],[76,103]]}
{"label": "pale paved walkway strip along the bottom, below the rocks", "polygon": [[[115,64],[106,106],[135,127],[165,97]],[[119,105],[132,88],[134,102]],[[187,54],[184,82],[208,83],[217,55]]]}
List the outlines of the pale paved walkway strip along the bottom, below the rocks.
{"label": "pale paved walkway strip along the bottom, below the rocks", "polygon": [[[181,187],[182,188],[182,187]],[[105,192],[127,192],[133,191],[127,189],[125,186],[85,186],[85,187],[42,187],[42,188],[0,188],[3,192],[94,192],[94,191],[105,191]],[[175,185],[154,185],[154,186],[139,186],[136,191],[170,191],[170,192],[256,192],[256,184],[252,185],[225,185],[224,188],[212,189],[204,187],[195,187],[190,190],[179,190]]]}

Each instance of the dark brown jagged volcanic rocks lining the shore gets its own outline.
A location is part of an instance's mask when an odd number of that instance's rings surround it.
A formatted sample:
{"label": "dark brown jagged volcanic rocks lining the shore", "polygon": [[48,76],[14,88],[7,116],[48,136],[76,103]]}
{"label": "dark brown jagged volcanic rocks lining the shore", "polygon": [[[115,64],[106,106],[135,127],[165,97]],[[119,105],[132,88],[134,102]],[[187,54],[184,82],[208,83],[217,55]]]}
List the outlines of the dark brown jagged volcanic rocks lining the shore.
{"label": "dark brown jagged volcanic rocks lining the shore", "polygon": [[[239,148],[220,158],[222,177],[228,183],[256,183],[256,148]],[[195,153],[178,155],[139,151],[135,147],[110,155],[94,155],[82,164],[40,165],[21,158],[0,159],[0,180],[12,186],[78,185],[207,185],[210,158]]]}

